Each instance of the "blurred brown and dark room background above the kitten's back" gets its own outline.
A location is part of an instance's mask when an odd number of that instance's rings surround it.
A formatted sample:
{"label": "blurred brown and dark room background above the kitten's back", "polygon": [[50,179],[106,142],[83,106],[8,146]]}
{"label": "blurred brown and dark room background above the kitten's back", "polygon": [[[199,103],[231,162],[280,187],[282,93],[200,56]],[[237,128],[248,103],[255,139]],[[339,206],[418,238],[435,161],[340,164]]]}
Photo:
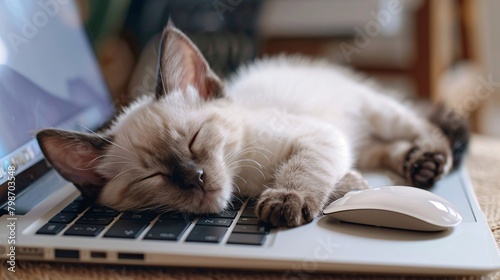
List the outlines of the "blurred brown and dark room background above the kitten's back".
{"label": "blurred brown and dark room background above the kitten's back", "polygon": [[500,136],[497,0],[79,0],[118,105],[155,85],[169,18],[221,76],[302,53],[358,69],[408,97],[441,101]]}

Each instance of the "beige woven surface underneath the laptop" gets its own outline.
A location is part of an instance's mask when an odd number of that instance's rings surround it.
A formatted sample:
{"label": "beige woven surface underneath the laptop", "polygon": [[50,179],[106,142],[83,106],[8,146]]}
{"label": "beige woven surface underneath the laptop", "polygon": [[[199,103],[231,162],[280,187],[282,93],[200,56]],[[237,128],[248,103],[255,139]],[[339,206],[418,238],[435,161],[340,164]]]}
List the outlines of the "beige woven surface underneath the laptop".
{"label": "beige woven surface underneath the laptop", "polygon": [[[474,136],[466,161],[479,204],[500,244],[500,139]],[[193,264],[196,265],[196,264]],[[19,262],[15,273],[0,270],[0,279],[284,279],[281,272],[241,270],[136,267],[122,265]],[[304,279],[405,279],[401,276],[342,274],[304,275]],[[420,279],[408,277],[407,279]],[[421,279],[429,279],[421,278]],[[481,277],[446,279],[500,279],[500,271]]]}

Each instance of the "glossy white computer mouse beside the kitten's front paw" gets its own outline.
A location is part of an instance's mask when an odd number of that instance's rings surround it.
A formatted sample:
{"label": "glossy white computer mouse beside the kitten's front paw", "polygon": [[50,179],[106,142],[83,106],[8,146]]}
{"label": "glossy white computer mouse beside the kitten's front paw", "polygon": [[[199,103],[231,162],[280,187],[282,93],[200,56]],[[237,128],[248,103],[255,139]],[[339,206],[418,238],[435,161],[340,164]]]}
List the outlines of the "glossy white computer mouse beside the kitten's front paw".
{"label": "glossy white computer mouse beside the kitten's front paw", "polygon": [[418,231],[440,231],[462,221],[458,209],[429,191],[388,186],[348,192],[323,213],[340,221]]}

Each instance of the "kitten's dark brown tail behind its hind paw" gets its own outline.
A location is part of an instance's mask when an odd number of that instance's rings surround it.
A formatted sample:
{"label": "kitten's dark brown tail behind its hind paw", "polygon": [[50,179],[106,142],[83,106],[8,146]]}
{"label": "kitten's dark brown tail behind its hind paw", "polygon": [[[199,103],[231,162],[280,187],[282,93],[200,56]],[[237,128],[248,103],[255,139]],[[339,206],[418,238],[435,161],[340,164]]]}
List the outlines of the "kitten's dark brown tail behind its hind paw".
{"label": "kitten's dark brown tail behind its hind paw", "polygon": [[466,118],[442,103],[427,106],[428,120],[439,127],[448,138],[453,153],[453,167],[460,166],[470,141],[470,125]]}

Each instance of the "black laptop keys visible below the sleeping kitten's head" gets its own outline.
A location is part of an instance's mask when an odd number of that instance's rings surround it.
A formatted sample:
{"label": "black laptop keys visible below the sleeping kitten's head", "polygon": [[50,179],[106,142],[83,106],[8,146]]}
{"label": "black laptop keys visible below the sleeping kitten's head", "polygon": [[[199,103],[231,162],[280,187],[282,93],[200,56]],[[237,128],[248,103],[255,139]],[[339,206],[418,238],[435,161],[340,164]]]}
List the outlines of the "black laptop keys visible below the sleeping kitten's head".
{"label": "black laptop keys visible below the sleeping kitten's head", "polygon": [[36,233],[121,239],[142,236],[144,240],[203,243],[221,243],[229,236],[226,244],[260,246],[271,226],[257,219],[254,208],[255,199],[246,199],[233,201],[228,210],[219,214],[119,212],[88,205],[78,197]]}

